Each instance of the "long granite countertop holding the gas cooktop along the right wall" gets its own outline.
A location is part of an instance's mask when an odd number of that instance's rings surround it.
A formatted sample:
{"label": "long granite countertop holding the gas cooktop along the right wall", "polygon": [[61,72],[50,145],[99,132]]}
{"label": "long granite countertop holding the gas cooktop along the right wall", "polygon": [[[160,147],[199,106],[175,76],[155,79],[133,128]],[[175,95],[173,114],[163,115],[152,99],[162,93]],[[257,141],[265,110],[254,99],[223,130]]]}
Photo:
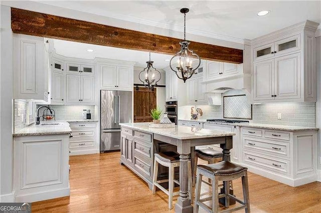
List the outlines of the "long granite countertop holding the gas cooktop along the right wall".
{"label": "long granite countertop holding the gas cooktop along the right wall", "polygon": [[184,121],[194,121],[194,122],[203,122],[203,123],[213,123],[219,125],[233,125],[233,126],[244,126],[244,127],[253,127],[253,128],[265,128],[272,130],[280,130],[280,131],[304,131],[304,130],[318,130],[316,127],[307,127],[307,126],[293,126],[293,125],[277,125],[277,124],[265,124],[265,123],[252,123],[252,122],[244,122],[244,123],[224,123],[224,122],[213,122],[206,121],[204,119],[199,120],[189,120],[189,119],[179,119]]}

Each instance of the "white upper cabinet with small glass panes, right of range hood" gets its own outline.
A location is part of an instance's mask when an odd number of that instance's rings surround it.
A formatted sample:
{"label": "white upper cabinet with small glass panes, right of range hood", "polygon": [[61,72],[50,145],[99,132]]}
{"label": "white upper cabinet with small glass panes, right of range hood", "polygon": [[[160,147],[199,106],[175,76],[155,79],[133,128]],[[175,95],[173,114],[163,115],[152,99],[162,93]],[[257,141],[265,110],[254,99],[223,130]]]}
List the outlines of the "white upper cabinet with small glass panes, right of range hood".
{"label": "white upper cabinet with small glass panes, right of range hood", "polygon": [[314,102],[317,23],[305,21],[251,41],[253,102]]}

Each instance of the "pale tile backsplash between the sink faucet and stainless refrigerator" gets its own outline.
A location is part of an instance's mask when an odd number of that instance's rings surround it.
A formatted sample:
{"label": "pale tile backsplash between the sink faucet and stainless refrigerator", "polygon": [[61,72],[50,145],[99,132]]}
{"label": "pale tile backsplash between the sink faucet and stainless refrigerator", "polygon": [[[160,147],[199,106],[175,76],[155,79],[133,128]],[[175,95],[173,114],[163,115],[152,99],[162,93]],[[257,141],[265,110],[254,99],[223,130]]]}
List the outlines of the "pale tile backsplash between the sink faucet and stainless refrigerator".
{"label": "pale tile backsplash between the sink faucet and stainless refrigerator", "polygon": [[[37,105],[39,107],[41,105]],[[56,120],[79,120],[82,119],[83,109],[90,109],[91,119],[95,119],[94,105],[50,105],[55,110]],[[43,114],[45,108],[39,110],[39,114]],[[42,118],[40,118],[42,120]]]}

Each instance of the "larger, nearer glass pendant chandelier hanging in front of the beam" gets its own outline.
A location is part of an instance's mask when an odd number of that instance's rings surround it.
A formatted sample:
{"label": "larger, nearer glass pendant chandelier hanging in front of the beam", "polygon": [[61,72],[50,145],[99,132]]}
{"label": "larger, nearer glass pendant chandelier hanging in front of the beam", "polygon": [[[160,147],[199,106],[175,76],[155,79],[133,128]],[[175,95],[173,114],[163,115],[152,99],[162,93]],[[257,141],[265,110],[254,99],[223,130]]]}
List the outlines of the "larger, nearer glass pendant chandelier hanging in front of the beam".
{"label": "larger, nearer glass pendant chandelier hanging in front of the beam", "polygon": [[[181,12],[184,13],[184,40],[180,42],[181,50],[174,55],[170,61],[170,67],[173,71],[176,72],[176,75],[183,79],[184,82],[192,77],[194,73],[197,73],[195,70],[200,66],[201,59],[200,57],[189,49],[190,41],[186,40],[186,13],[190,10],[188,8],[182,8]],[[193,61],[194,60],[194,61]],[[173,61],[173,63],[172,63]],[[193,67],[193,63],[197,64]]]}

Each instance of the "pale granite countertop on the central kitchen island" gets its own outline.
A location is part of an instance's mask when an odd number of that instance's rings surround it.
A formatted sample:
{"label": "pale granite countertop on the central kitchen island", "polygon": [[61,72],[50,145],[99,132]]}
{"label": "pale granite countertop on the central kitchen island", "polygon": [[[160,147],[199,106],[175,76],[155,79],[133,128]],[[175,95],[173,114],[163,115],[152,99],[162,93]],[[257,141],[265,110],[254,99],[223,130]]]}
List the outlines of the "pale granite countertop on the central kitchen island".
{"label": "pale granite countertop on the central kitchen island", "polygon": [[233,132],[223,130],[197,129],[196,127],[175,126],[173,128],[149,128],[148,122],[140,123],[119,123],[122,126],[133,128],[136,130],[161,134],[176,139],[197,139],[205,137],[221,137],[235,135]]}

